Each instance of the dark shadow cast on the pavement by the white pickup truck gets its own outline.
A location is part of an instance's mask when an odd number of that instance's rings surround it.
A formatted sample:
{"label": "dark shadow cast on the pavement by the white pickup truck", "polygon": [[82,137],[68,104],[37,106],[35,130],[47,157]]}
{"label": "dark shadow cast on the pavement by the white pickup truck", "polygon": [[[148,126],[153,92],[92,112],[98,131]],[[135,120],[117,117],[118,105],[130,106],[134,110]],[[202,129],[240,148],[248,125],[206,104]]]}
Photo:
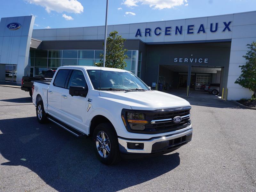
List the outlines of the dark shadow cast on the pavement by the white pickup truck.
{"label": "dark shadow cast on the pavement by the white pickup truck", "polygon": [[9,161],[1,165],[28,167],[58,191],[117,191],[180,164],[179,153],[174,152],[107,166],[97,160],[90,138],[78,139],[55,124],[27,117],[0,120],[0,125],[0,152]]}

